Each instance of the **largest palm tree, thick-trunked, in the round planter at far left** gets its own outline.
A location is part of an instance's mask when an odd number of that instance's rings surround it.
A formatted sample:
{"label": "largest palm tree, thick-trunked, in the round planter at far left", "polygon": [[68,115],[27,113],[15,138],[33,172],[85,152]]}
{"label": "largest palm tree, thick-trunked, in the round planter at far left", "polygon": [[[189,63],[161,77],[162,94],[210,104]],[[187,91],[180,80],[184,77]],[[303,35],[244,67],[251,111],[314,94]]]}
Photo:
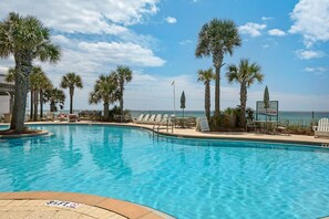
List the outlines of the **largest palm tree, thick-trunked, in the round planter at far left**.
{"label": "largest palm tree, thick-trunked, in the round planter at far left", "polygon": [[60,59],[60,48],[50,40],[50,29],[45,28],[35,17],[20,17],[10,12],[0,22],[0,58],[14,58],[14,104],[10,129],[22,133],[24,129],[27,92],[32,62],[55,63]]}

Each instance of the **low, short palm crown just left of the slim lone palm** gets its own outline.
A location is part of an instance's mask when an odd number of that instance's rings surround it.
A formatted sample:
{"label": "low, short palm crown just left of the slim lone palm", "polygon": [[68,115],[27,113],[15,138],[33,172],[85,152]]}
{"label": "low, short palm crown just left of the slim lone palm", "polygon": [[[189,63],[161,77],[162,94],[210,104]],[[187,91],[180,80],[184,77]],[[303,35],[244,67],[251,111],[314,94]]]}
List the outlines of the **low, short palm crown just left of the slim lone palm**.
{"label": "low, short palm crown just left of the slim lone palm", "polygon": [[45,103],[50,103],[50,112],[56,112],[60,107],[64,107],[65,94],[59,88],[49,88],[43,93],[43,98]]}

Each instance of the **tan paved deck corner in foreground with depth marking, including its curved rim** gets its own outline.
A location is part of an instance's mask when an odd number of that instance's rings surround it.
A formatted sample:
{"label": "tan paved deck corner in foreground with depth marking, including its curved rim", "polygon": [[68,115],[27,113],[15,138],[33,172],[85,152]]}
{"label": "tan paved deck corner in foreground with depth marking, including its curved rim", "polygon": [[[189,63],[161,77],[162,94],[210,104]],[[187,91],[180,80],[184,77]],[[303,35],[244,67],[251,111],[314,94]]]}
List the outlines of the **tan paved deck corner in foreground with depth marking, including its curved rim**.
{"label": "tan paved deck corner in foreground with depth marking, including its curved rim", "polygon": [[24,191],[0,192],[0,219],[172,219],[132,202],[100,196]]}

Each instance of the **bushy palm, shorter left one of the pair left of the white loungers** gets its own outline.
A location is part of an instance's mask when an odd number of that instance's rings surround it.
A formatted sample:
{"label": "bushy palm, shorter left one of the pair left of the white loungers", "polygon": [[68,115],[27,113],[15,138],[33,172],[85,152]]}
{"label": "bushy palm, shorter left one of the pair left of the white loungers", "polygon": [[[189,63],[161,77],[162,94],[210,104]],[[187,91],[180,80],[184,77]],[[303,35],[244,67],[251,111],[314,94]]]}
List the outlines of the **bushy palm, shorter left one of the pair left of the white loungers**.
{"label": "bushy palm, shorter left one of the pair left of the white loungers", "polygon": [[117,84],[117,75],[111,73],[110,75],[100,75],[94,85],[94,91],[90,93],[89,103],[97,104],[101,101],[104,103],[104,118],[110,118],[110,104],[114,103],[120,97],[120,90]]}

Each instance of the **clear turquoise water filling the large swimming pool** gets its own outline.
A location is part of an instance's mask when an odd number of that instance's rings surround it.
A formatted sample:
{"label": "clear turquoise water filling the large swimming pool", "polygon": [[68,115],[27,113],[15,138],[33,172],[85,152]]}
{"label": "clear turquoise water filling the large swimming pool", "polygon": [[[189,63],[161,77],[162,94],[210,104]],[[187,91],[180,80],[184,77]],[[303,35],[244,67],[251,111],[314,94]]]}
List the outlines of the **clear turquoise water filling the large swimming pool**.
{"label": "clear turquoise water filling the large swimming pool", "polygon": [[0,139],[0,191],[94,194],[183,219],[329,215],[326,149],[116,126],[34,127],[54,136]]}

